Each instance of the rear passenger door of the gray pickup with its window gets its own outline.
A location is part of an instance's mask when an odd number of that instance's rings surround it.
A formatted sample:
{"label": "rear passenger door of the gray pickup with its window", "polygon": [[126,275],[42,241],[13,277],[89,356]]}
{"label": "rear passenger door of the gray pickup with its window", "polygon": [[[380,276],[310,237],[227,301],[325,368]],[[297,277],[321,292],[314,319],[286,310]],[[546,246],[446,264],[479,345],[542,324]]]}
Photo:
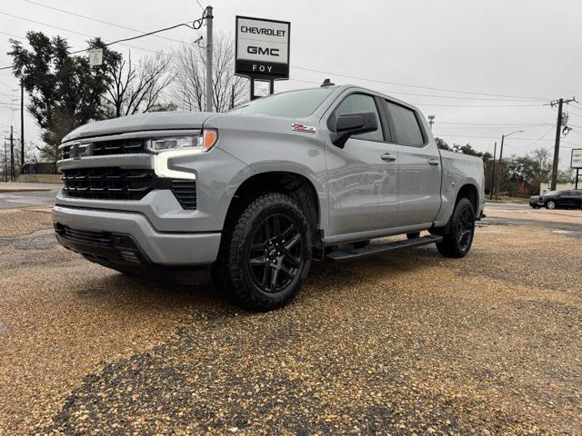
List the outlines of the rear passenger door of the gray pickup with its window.
{"label": "rear passenger door of the gray pickup with its window", "polygon": [[415,109],[383,99],[398,152],[397,225],[432,223],[440,209],[441,160],[437,144]]}

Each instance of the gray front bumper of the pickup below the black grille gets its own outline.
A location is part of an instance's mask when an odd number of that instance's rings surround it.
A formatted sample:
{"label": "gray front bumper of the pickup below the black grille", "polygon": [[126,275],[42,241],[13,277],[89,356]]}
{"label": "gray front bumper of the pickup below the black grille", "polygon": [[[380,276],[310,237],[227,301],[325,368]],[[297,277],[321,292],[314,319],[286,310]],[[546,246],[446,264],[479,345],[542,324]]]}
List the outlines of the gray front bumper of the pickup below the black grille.
{"label": "gray front bumper of the pickup below the black grille", "polygon": [[[117,252],[134,251],[143,267],[209,265],[216,261],[221,236],[218,232],[159,232],[142,213],[63,205],[55,205],[53,208],[53,222],[57,227],[68,227],[74,231],[125,236],[135,244],[135,247],[127,247],[125,246],[127,243],[124,242],[118,247],[105,246],[104,252],[104,246],[95,244],[91,238],[84,239],[82,236],[77,241],[66,241],[66,237],[59,235],[57,231],[59,242],[78,253],[88,254],[89,257],[100,255],[103,262],[106,260],[115,263],[115,259],[119,259],[115,257],[119,254]],[[97,257],[95,262],[98,260]],[[123,259],[116,263],[124,264]]]}

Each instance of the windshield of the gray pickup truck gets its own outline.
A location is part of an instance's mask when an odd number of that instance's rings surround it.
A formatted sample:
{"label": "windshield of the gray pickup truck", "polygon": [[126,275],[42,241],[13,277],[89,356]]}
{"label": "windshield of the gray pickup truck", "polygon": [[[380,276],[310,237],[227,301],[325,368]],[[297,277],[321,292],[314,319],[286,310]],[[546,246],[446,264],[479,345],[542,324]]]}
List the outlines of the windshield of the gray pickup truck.
{"label": "windshield of the gray pickup truck", "polygon": [[326,87],[270,95],[238,106],[230,113],[305,118],[313,114],[332,91]]}

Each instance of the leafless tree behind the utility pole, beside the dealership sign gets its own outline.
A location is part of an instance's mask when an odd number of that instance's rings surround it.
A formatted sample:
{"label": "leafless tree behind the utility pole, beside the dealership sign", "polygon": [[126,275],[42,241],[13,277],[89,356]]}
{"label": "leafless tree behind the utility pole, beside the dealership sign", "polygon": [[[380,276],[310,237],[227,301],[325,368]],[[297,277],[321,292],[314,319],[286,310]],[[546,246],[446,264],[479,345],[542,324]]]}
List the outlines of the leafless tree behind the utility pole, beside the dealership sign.
{"label": "leafless tree behind the utility pole, beside the dealership sign", "polygon": [[[185,110],[204,111],[206,47],[182,45],[174,53],[174,72],[174,102]],[[248,98],[248,80],[235,75],[234,44],[230,36],[217,35],[214,38],[212,82],[213,107],[216,112],[225,112],[233,103],[236,105]]]}

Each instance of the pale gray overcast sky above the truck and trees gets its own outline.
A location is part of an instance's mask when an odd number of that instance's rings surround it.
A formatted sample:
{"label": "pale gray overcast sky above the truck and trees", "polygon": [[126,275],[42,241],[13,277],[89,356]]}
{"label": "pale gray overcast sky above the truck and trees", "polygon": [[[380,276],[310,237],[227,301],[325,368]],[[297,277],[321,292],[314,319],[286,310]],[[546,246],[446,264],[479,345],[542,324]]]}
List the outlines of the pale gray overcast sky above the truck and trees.
{"label": "pale gray overcast sky above the truck and trees", "polygon": [[[208,4],[200,2],[203,6]],[[202,14],[196,0],[35,0],[35,3],[144,32],[196,19]],[[236,15],[291,22],[292,80],[277,82],[276,91],[311,86],[308,82],[319,84],[326,77],[336,84],[366,85],[418,105],[425,115],[436,115],[434,134],[449,144],[470,143],[478,150],[493,152],[493,144],[501,134],[524,130],[507,140],[504,155],[526,154],[540,145],[553,147],[555,129],[551,124],[556,123],[557,110],[544,104],[572,95],[582,100],[579,0],[213,0],[210,5],[215,7],[216,33],[234,35]],[[27,30],[62,35],[74,49],[84,48],[87,39],[74,32],[102,36],[105,41],[135,35],[114,25],[67,15],[25,0],[2,2],[0,13],[0,66],[10,64],[5,54],[9,48],[7,39],[22,38]],[[201,32],[206,32],[206,28],[176,29],[164,35],[186,41]],[[127,44],[134,46],[132,57],[148,54],[142,49],[169,51],[179,45],[154,36]],[[115,45],[115,49],[126,53],[129,47]],[[9,71],[1,71],[2,104],[11,101],[10,94],[16,87]],[[17,96],[19,93],[15,93],[16,103]],[[499,107],[503,105],[507,107]],[[563,140],[563,145],[582,147],[582,105],[570,107],[569,124],[574,126],[574,132]],[[19,129],[19,113],[1,108],[2,129],[11,123]],[[25,123],[26,137],[39,141],[34,121],[27,116]],[[542,136],[542,140],[532,144]],[[561,149],[560,166],[569,163],[569,154],[569,148]]]}

